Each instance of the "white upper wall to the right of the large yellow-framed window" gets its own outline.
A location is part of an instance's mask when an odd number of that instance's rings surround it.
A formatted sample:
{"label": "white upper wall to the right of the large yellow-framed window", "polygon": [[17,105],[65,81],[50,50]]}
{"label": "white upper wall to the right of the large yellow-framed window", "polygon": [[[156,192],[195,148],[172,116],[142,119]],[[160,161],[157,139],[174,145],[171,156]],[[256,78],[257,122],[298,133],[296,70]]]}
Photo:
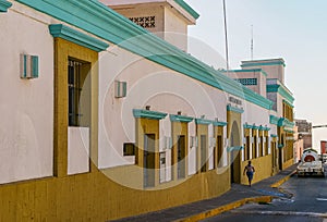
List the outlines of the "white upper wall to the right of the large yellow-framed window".
{"label": "white upper wall to the right of the large yellow-framed window", "polygon": [[[162,65],[149,62],[123,49],[112,46],[109,52],[101,52],[99,60],[99,168],[113,168],[134,164],[133,157],[123,157],[122,144],[135,141],[135,119],[133,109],[144,109],[199,118],[227,121],[229,95],[171,71]],[[113,97],[113,82],[128,83],[128,96]],[[242,124],[269,126],[269,111],[247,101],[243,101]],[[257,113],[262,113],[258,115]],[[160,125],[160,137],[166,135],[167,126]],[[168,123],[168,122],[167,122]],[[195,124],[189,124],[190,137],[195,136]],[[165,131],[164,131],[165,130]],[[227,137],[225,127],[225,138]],[[162,143],[160,141],[160,150]],[[226,147],[225,147],[226,148]],[[195,173],[196,148],[189,149],[189,174]],[[223,165],[228,164],[223,152]],[[167,164],[171,156],[167,151]],[[211,163],[209,163],[211,164]]]}

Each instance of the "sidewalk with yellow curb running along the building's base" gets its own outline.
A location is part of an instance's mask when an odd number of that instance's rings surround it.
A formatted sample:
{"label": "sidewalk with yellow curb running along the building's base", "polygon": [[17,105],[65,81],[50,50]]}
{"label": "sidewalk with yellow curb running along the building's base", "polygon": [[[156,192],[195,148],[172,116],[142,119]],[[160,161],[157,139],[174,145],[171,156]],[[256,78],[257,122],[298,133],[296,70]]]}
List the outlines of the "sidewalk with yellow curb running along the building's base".
{"label": "sidewalk with yellow curb running along the building's base", "polygon": [[[116,220],[117,222],[144,222],[144,221],[197,221],[240,207],[249,201],[269,201],[272,197],[289,197],[277,188],[286,182],[295,171],[298,164],[279,172],[277,175],[261,181],[252,187],[232,184],[226,194],[206,200],[201,200],[174,208],[149,212],[131,218]],[[272,186],[272,187],[271,187]]]}

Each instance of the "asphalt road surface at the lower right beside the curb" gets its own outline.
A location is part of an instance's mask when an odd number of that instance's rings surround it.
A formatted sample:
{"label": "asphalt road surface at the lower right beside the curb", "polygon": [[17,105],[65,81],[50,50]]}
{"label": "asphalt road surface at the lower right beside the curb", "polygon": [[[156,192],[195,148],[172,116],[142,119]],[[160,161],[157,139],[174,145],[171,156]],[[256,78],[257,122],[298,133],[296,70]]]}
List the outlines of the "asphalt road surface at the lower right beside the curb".
{"label": "asphalt road surface at the lower right beside the curb", "polygon": [[[325,169],[327,172],[326,166]],[[280,190],[291,194],[291,197],[274,199],[268,205],[245,205],[204,221],[327,222],[327,175],[325,177],[294,175],[280,186]]]}

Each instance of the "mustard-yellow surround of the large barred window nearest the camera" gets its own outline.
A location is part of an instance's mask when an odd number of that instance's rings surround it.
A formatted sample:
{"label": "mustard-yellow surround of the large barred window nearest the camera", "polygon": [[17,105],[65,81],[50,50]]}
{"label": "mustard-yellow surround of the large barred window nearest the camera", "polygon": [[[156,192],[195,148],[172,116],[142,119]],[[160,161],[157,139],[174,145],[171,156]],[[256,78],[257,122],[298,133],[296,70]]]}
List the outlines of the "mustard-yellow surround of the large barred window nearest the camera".
{"label": "mustard-yellow surround of the large barred window nearest the camera", "polygon": [[[68,174],[68,62],[74,58],[90,63],[90,157],[97,163],[98,147],[98,53],[61,38],[55,38],[55,161],[53,174]],[[90,164],[92,170],[93,164]]]}

